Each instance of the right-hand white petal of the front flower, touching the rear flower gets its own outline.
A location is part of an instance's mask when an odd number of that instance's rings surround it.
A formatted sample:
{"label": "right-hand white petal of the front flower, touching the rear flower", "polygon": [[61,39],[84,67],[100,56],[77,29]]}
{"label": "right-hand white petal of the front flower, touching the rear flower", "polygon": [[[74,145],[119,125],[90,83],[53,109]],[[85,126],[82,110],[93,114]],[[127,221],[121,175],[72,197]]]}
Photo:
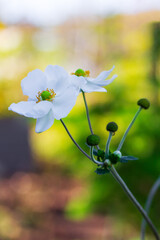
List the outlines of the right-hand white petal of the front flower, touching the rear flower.
{"label": "right-hand white petal of the front flower, touching the rear flower", "polygon": [[53,100],[53,113],[55,119],[66,117],[76,103],[79,91],[75,87],[67,88],[59,97]]}

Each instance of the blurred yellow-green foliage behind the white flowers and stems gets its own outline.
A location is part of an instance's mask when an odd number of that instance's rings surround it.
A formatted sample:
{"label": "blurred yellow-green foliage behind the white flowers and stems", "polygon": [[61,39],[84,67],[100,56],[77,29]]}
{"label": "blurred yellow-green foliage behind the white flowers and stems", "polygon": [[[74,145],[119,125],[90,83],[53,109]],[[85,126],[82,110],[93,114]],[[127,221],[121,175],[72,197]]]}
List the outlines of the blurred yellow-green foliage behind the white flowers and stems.
{"label": "blurred yellow-green foliage behind the white flowers and stems", "polygon": [[[13,39],[8,38],[10,31],[14,32],[14,44]],[[70,72],[77,68],[90,70],[93,76],[115,65],[114,73],[118,77],[107,87],[108,93],[86,95],[92,127],[101,137],[102,149],[108,137],[107,123],[115,121],[119,126],[111,142],[114,151],[137,111],[137,100],[143,97],[150,100],[150,109],[141,112],[122,149],[124,155],[136,156],[139,161],[117,166],[120,175],[144,205],[160,174],[160,24],[149,22],[147,15],[143,18],[141,15],[116,16],[97,22],[68,22],[47,30],[4,26],[0,36],[2,117],[15,116],[8,112],[8,106],[26,99],[20,88],[21,79],[35,68],[44,70],[48,64],[64,66]],[[34,120],[28,122],[31,148],[37,162],[53,169],[59,165],[64,176],[81,179],[86,184],[87,192],[66,207],[67,216],[77,219],[98,212],[115,216],[115,224],[125,223],[128,218],[130,225],[139,228],[141,216],[122,189],[109,174],[96,175],[96,166],[76,149],[60,122],[55,121],[51,129],[41,134],[34,132]],[[76,106],[64,122],[80,146],[88,151],[85,141],[90,132],[82,96],[78,97]],[[151,210],[156,223],[160,223],[157,214],[160,213],[159,198],[160,193]]]}

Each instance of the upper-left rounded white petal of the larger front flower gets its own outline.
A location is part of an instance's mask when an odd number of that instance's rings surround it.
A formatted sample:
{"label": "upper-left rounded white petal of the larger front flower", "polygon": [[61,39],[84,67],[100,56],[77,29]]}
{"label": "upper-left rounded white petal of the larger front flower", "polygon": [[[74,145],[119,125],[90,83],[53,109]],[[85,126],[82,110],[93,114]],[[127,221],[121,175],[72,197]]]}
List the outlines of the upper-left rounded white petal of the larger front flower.
{"label": "upper-left rounded white petal of the larger front flower", "polygon": [[44,72],[39,69],[35,69],[21,81],[23,94],[34,100],[36,99],[36,95],[39,91],[47,88],[46,83],[47,79]]}

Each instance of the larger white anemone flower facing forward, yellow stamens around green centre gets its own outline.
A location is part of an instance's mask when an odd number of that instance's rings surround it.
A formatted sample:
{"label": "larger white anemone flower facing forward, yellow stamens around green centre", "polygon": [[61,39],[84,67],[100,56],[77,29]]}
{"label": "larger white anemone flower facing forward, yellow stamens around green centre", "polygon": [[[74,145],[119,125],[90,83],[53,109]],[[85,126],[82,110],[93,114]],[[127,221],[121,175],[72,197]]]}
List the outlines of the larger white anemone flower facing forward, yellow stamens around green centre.
{"label": "larger white anemone flower facing forward, yellow stamens around green centre", "polygon": [[57,65],[47,66],[45,72],[33,70],[21,81],[23,94],[29,97],[28,101],[12,103],[8,109],[37,119],[37,133],[47,130],[54,119],[66,117],[76,103],[79,92],[69,85],[69,77]]}

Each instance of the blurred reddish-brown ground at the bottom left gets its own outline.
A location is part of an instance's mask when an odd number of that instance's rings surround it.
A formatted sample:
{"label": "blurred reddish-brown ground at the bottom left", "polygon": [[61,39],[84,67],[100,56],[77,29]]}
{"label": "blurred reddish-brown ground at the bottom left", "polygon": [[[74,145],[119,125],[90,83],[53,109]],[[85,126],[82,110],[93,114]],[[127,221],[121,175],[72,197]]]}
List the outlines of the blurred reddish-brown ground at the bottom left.
{"label": "blurred reddish-brown ground at the bottom left", "polygon": [[1,180],[1,239],[96,240],[103,239],[104,234],[111,239],[111,223],[104,216],[92,215],[81,221],[65,216],[66,204],[83,187],[80,182],[57,173],[17,173]]}

